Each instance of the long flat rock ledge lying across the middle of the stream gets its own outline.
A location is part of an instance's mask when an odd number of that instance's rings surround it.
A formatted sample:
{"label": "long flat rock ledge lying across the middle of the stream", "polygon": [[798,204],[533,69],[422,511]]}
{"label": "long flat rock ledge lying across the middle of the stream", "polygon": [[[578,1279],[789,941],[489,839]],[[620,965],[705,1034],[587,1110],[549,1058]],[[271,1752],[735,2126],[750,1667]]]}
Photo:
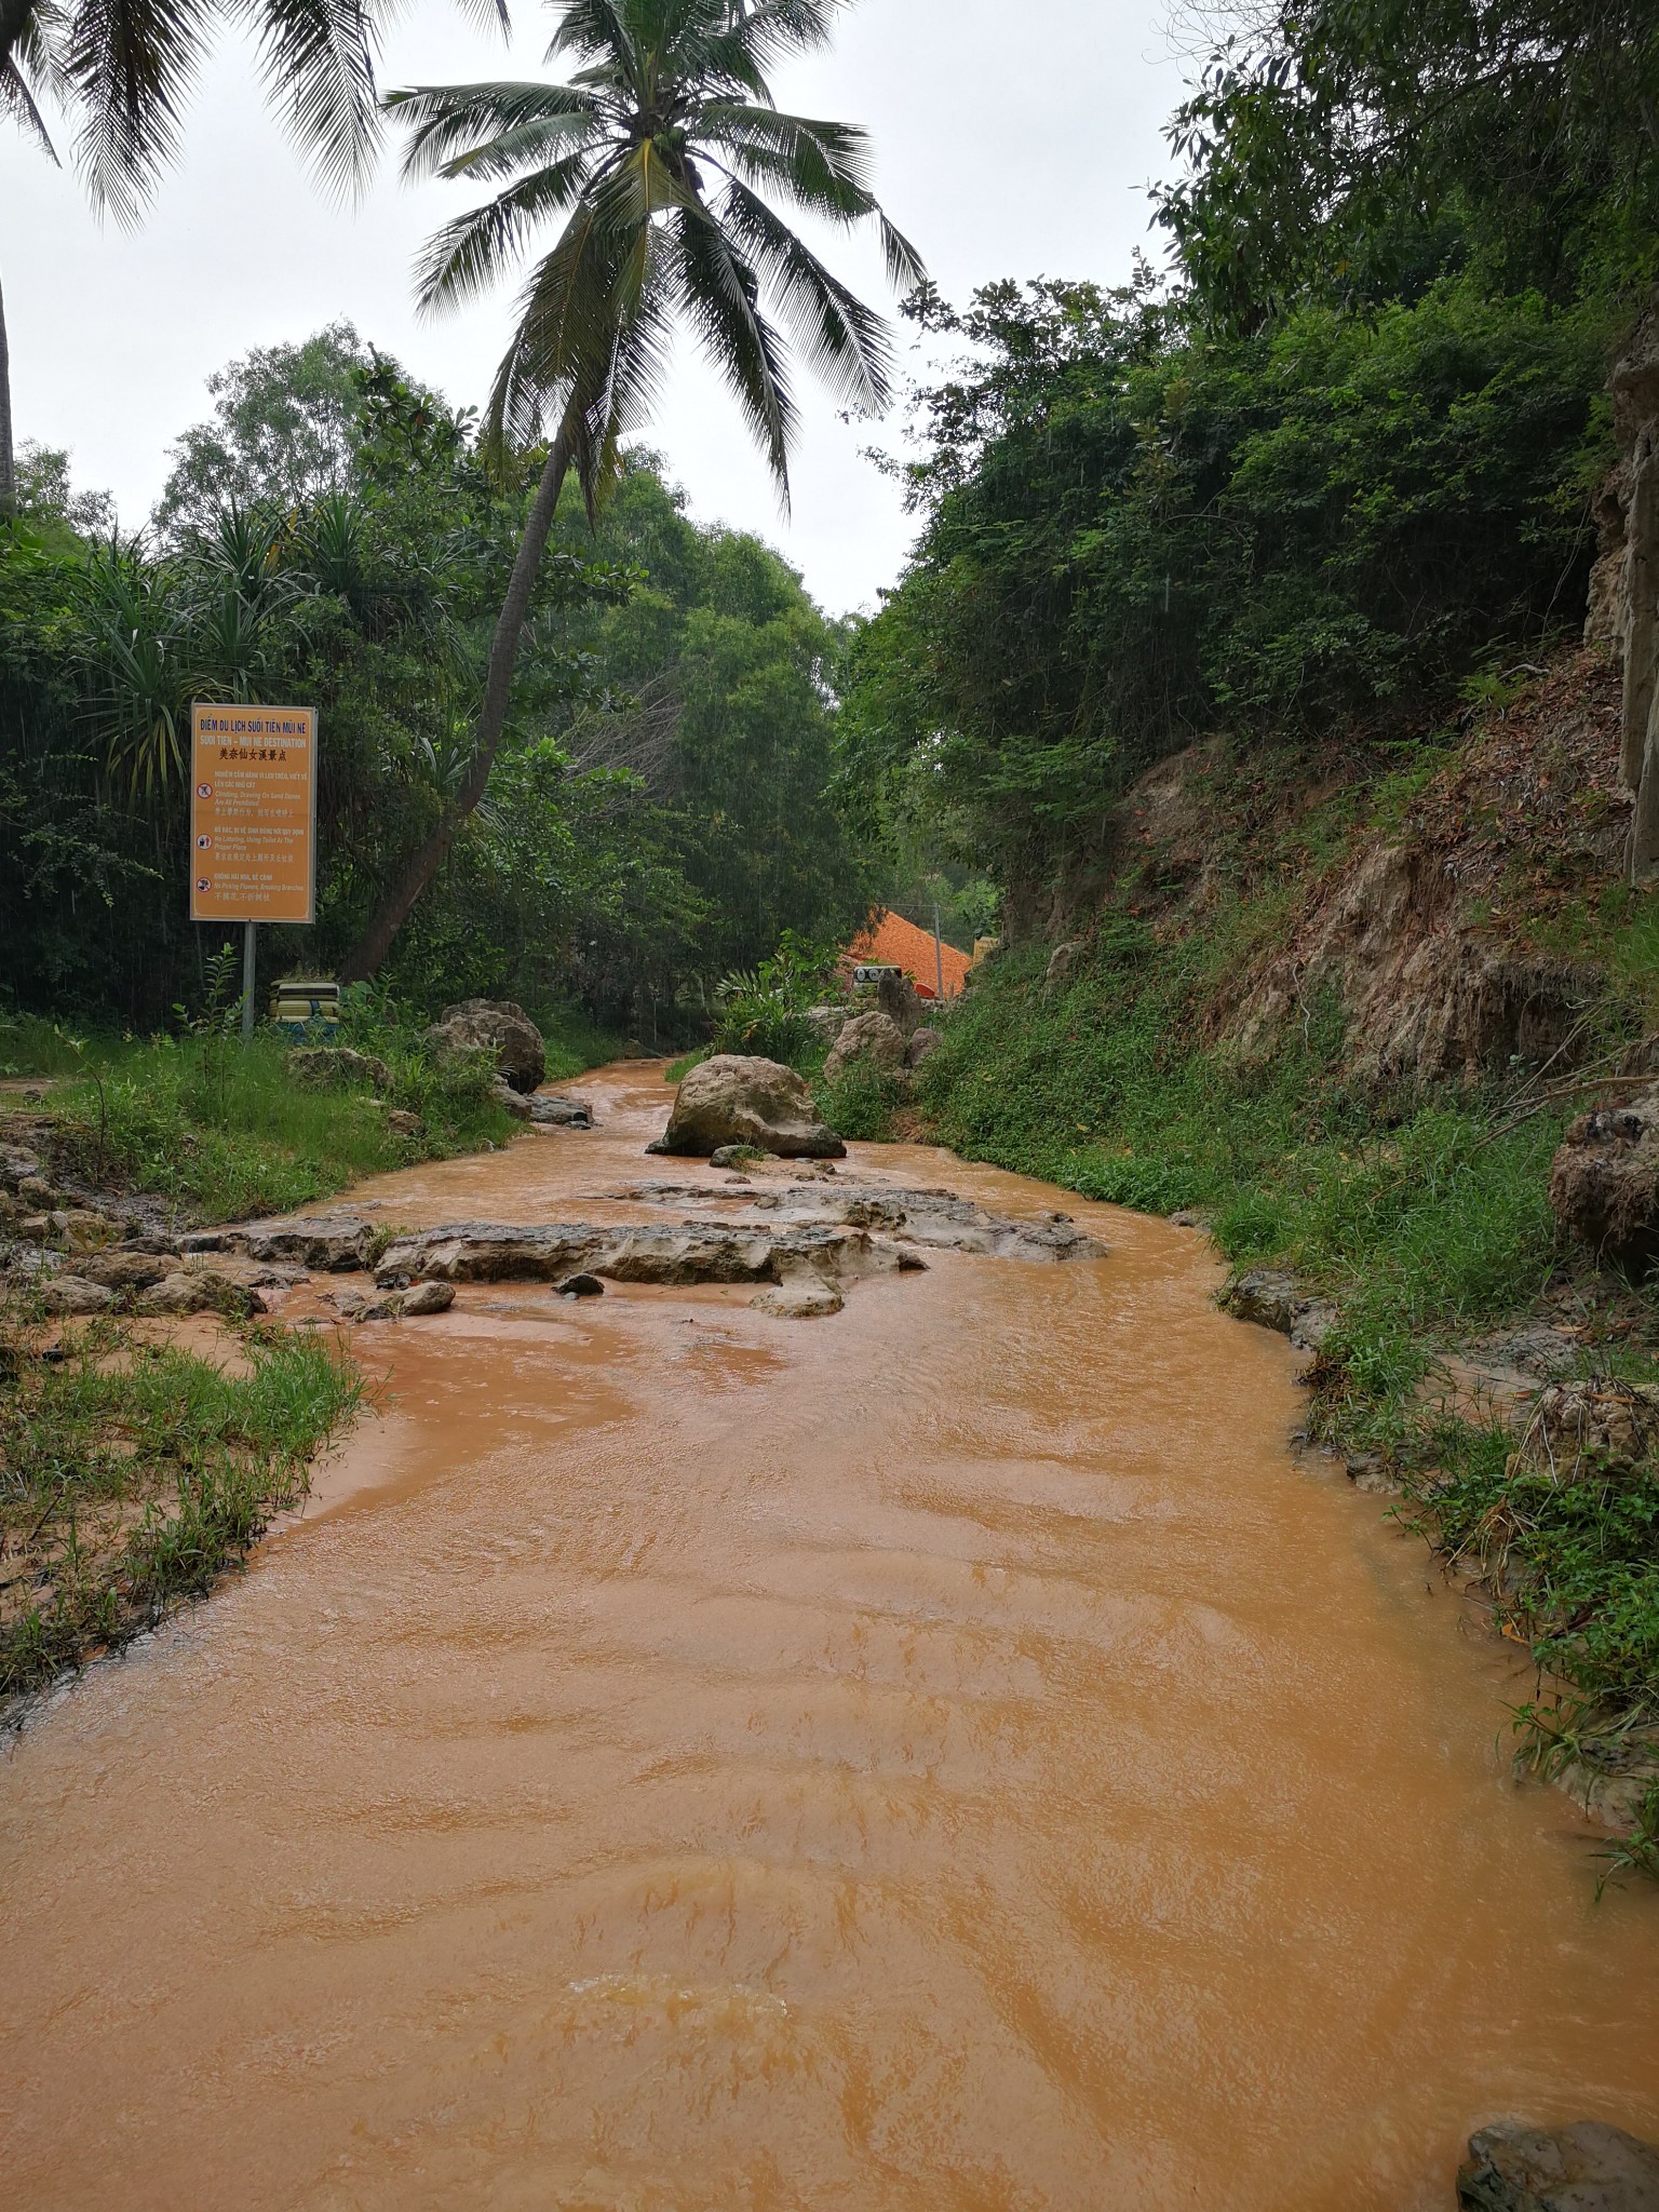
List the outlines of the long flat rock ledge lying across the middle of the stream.
{"label": "long flat rock ledge lying across the middle of the stream", "polygon": [[380,1259],[376,1281],[400,1287],[438,1283],[564,1283],[573,1274],[613,1283],[785,1283],[812,1274],[852,1281],[920,1267],[911,1254],[876,1243],[865,1230],[801,1223],[593,1223],[456,1221],[403,1237]]}

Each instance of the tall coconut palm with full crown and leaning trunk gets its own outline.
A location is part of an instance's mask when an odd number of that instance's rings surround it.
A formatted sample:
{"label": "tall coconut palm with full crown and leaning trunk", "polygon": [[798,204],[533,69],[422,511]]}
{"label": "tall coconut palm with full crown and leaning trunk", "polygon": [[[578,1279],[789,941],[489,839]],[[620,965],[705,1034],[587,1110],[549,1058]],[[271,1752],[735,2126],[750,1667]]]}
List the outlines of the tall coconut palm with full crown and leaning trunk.
{"label": "tall coconut palm with full crown and leaning trunk", "polygon": [[518,639],[575,469],[593,513],[619,438],[655,396],[672,319],[690,323],[732,387],[787,502],[796,427],[790,338],[847,405],[880,411],[891,352],[878,314],[830,274],[770,197],[836,226],[874,221],[896,288],[925,281],[869,190],[863,131],[779,113],[765,71],[827,44],[843,0],[551,0],[549,58],[566,84],[460,84],[392,93],[414,131],[405,175],[500,190],[445,226],[418,270],[425,310],[493,283],[535,226],[562,217],[520,296],[495,374],[487,449],[500,462],[549,431],[489,653],[473,757],[456,796],[387,889],[343,967],[372,975],[478,805],[507,723]]}

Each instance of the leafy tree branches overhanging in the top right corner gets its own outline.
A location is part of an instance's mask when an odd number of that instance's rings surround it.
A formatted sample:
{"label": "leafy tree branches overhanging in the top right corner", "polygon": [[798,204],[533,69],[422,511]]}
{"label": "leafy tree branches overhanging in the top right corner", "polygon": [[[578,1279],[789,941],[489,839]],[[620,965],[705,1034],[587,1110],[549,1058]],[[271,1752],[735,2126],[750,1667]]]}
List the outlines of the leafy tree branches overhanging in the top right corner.
{"label": "leafy tree branches overhanging in the top right corner", "polygon": [[1170,124],[1157,192],[1212,321],[1411,299],[1455,268],[1557,301],[1657,265],[1648,0],[1274,0]]}

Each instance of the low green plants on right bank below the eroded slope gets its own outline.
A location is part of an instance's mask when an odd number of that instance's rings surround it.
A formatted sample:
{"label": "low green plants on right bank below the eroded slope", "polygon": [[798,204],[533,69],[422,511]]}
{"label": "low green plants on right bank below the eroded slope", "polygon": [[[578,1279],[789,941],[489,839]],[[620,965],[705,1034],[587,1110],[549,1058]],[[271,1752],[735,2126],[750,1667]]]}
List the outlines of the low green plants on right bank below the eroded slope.
{"label": "low green plants on right bank below the eroded slope", "polygon": [[1037,958],[993,962],[916,1077],[942,1141],[1115,1206],[1203,1212],[1237,1265],[1336,1294],[1345,1356],[1378,1371],[1407,1338],[1524,1305],[1551,1267],[1559,1121],[1493,1139],[1478,1099],[1352,1091],[1329,1004],[1263,1064],[1212,1046],[1214,975],[1245,927],[1237,911],[1164,947],[1104,931],[1053,995]]}

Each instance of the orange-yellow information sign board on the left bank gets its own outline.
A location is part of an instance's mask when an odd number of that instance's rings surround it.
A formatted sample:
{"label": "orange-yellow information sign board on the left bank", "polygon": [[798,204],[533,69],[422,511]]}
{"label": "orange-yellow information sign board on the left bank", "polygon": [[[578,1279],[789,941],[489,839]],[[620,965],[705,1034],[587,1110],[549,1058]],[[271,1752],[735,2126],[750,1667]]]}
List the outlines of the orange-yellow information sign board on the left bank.
{"label": "orange-yellow information sign board on the left bank", "polygon": [[316,920],[316,708],[195,710],[190,920]]}

